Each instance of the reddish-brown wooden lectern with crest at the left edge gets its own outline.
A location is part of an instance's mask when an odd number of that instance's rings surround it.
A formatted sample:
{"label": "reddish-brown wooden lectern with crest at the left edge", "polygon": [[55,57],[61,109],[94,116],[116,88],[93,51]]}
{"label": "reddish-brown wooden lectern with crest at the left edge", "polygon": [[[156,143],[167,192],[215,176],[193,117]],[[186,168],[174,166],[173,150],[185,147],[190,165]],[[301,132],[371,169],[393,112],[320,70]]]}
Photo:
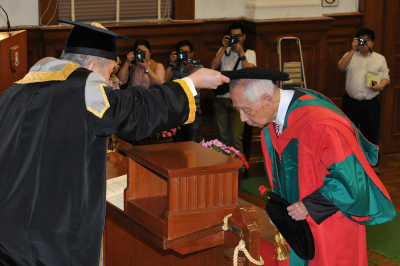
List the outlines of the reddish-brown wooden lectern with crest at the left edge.
{"label": "reddish-brown wooden lectern with crest at the left edge", "polygon": [[28,72],[26,31],[0,32],[0,95]]}

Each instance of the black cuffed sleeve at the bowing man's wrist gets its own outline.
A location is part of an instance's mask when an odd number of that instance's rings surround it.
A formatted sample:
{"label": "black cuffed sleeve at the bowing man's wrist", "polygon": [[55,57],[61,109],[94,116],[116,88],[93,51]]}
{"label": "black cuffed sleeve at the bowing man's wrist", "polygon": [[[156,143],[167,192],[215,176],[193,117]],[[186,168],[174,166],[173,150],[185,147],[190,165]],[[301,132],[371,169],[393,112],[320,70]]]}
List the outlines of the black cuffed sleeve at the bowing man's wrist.
{"label": "black cuffed sleeve at the bowing man's wrist", "polygon": [[319,190],[303,198],[302,202],[317,224],[322,223],[326,218],[339,210],[332,202],[322,196]]}

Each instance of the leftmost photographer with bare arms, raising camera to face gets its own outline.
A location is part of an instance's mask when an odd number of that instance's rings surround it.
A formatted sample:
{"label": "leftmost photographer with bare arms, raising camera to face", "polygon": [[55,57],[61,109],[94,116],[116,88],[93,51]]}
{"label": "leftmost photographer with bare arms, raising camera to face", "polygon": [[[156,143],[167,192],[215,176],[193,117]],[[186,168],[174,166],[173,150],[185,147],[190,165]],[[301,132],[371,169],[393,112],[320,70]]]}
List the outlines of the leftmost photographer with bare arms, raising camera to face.
{"label": "leftmost photographer with bare arms, raising camera to face", "polygon": [[125,64],[121,66],[118,72],[117,76],[122,84],[125,84],[128,80],[129,86],[143,85],[148,87],[151,84],[164,83],[165,69],[163,65],[150,59],[150,56],[150,43],[144,39],[137,40],[133,45],[133,52],[127,54]]}

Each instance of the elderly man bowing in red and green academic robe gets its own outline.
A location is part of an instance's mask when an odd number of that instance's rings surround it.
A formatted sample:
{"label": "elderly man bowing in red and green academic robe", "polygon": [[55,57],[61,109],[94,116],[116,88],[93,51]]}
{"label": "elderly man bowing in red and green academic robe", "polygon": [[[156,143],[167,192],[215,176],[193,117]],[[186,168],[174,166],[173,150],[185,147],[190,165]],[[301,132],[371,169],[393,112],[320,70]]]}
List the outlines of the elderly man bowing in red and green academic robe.
{"label": "elderly man bowing in red and green academic robe", "polygon": [[271,80],[287,80],[285,73],[247,68],[227,75],[241,119],[263,128],[272,191],[291,204],[287,211],[292,219],[307,221],[313,235],[312,259],[303,260],[291,250],[282,265],[368,265],[365,224],[396,215],[371,168],[378,147],[325,96],[277,88]]}

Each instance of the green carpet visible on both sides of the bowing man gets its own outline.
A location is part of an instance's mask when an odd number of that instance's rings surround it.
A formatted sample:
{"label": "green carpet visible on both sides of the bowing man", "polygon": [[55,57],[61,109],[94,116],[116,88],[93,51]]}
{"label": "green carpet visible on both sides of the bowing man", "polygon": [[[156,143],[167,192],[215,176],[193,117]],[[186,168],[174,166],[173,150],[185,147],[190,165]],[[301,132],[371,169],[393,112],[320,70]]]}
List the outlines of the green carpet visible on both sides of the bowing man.
{"label": "green carpet visible on both sides of the bowing man", "polygon": [[[269,187],[266,176],[245,178],[239,189],[251,195],[260,197],[258,188]],[[392,261],[400,263],[400,216],[390,222],[380,225],[367,225],[367,248]]]}

